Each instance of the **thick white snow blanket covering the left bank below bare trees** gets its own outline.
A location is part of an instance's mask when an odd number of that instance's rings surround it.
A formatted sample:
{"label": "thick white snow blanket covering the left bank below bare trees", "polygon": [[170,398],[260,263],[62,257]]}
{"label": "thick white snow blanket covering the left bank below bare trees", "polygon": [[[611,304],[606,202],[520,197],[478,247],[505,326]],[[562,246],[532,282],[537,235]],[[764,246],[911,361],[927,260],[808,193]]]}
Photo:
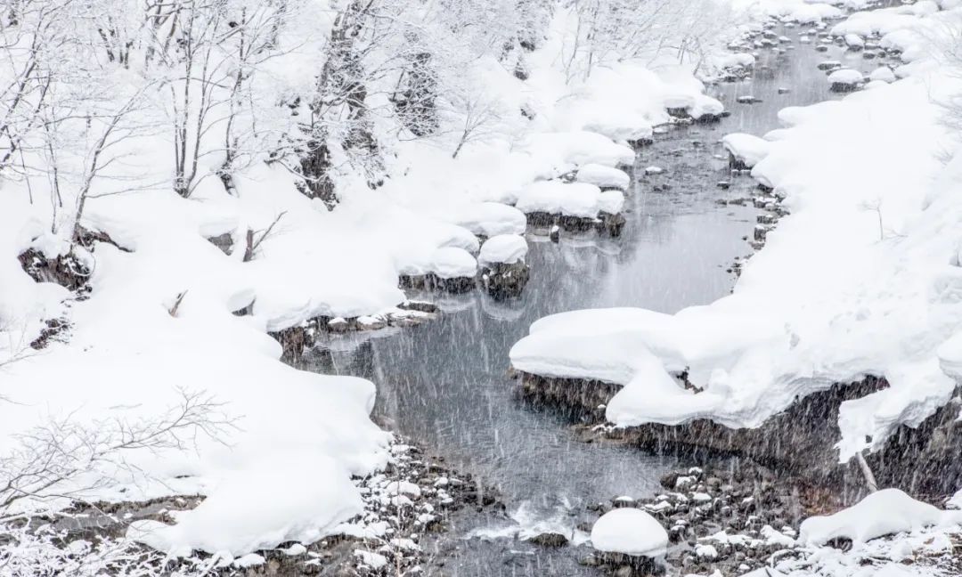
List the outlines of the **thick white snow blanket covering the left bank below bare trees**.
{"label": "thick white snow blanket covering the left bank below bare trees", "polygon": [[[257,118],[266,133],[277,129],[270,123],[280,126],[291,118],[278,102],[314,89],[304,70],[321,67],[316,55],[322,51],[312,50],[326,42],[318,31],[330,29],[333,12],[324,3],[304,6],[317,12],[293,22],[303,23],[297,32],[308,38],[282,34],[282,54],[266,64],[266,73],[251,77],[255,95],[268,103]],[[209,400],[205,407],[220,415],[211,435],[187,431],[197,443],[190,450],[176,443],[155,451],[125,449],[123,466],[99,464],[87,477],[57,489],[89,489],[82,495],[109,500],[205,495],[203,504],[180,514],[176,525],[135,528],[134,537],[173,553],[203,549],[241,556],[337,531],[342,521],[360,513],[350,475],[367,475],[386,463],[389,436],[368,417],[374,386],[294,370],[278,361],[281,347],[266,333],[319,315],[389,310],[405,298],[397,289],[399,275],[472,276],[477,265],[472,255],[480,249],[476,236],[524,231],[523,213],[506,206],[516,201],[590,217],[617,212],[620,192],[601,193],[598,185],[624,188],[623,173],[589,166],[632,165],[635,153],[622,140],[650,138],[653,125],[668,121],[671,99],[685,99],[693,115],[721,111],[696,80],[697,63],[691,58],[682,63],[675,55],[611,58],[591,74],[565,69],[558,56],[571,45],[571,15],[557,11],[544,46],[525,55],[527,82],[493,53],[458,70],[460,80],[481,87],[472,96],[490,121],[456,158],[453,151],[465,125],[456,111],[443,118],[437,138],[426,139],[397,138],[396,130],[380,130],[387,120],[377,117],[379,136],[391,135],[379,142],[386,165],[377,188],[360,167],[333,150],[331,176],[341,197],[333,212],[299,192],[291,170],[265,163],[260,147],[252,147],[250,163],[232,175],[233,194],[227,193],[217,178],[224,160],[222,119],[237,99],[222,87],[212,88],[209,117],[218,119],[218,128],[197,143],[199,180],[190,199],[170,186],[170,131],[123,138],[112,153],[111,178],[93,183],[82,222],[130,252],[99,243],[92,255],[82,254],[93,270],[87,300],[64,302],[65,289],[36,283],[22,270],[17,257],[28,248],[51,257],[63,254],[70,223],[66,230],[57,227],[63,214],[51,214],[46,173],[29,187],[5,173],[0,179],[0,457],[17,451],[24,434],[54,423],[104,432],[111,424],[169,418],[184,402],[178,390],[183,388],[189,396],[200,395],[190,398]],[[91,68],[98,64],[93,60]],[[7,74],[22,69],[19,64],[5,65],[0,75],[11,80]],[[133,78],[124,71],[118,75]],[[119,88],[130,87],[121,82]],[[372,88],[372,108],[390,110],[389,103],[377,99],[392,88]],[[169,111],[161,112],[156,124],[168,126],[163,113]],[[578,168],[587,170],[586,179],[595,170],[595,182],[564,189],[534,185]],[[112,190],[116,183],[134,191]],[[521,192],[530,196],[519,199]],[[75,200],[66,198],[65,206]],[[248,231],[256,247],[245,260]],[[229,238],[230,254],[207,239],[222,235]],[[511,252],[494,250],[496,243],[487,252],[517,257],[519,242],[512,243]],[[252,314],[232,314],[241,309]],[[61,316],[70,324],[63,342],[31,355],[26,345],[38,337],[44,321]],[[25,501],[22,506],[64,503]]]}

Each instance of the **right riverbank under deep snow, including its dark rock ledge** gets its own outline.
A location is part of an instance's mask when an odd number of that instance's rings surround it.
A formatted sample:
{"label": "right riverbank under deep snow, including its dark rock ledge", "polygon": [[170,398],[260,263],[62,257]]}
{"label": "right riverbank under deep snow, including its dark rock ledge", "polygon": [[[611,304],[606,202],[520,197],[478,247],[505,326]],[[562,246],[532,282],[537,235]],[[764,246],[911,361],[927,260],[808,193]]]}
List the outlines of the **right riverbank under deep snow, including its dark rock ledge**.
{"label": "right riverbank under deep snow, including its dark rock ledge", "polygon": [[[886,66],[862,75],[864,90],[840,102],[784,109],[782,128],[756,133],[763,145],[731,141],[736,168],[749,168],[782,209],[748,238],[760,251],[734,267],[733,294],[677,314],[545,317],[512,350],[521,390],[585,418],[583,439],[709,462],[756,459],[829,490],[832,511],[876,484],[938,507],[950,502],[962,486],[958,311],[949,295],[958,170],[936,156],[956,147],[945,107],[959,87],[930,50],[936,31],[958,17],[946,8],[881,9],[796,32],[816,44],[796,53],[845,48],[842,58],[826,57],[826,72],[879,59]],[[783,43],[772,38],[770,48]],[[883,68],[891,74],[877,73]],[[950,575],[958,530],[945,531],[926,538],[935,550],[910,532],[866,539],[853,552],[785,552],[794,561],[768,566],[779,575],[883,567]]]}

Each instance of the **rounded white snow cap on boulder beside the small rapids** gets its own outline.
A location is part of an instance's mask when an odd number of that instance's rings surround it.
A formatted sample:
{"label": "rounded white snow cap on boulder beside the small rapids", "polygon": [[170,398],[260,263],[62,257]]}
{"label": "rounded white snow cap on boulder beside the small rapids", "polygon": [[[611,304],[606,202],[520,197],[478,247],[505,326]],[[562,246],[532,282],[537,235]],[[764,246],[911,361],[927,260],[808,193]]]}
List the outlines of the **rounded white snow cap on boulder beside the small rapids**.
{"label": "rounded white snow cap on boulder beside the small rapids", "polygon": [[668,547],[668,532],[641,509],[622,507],[601,515],[592,527],[592,546],[605,553],[657,557]]}

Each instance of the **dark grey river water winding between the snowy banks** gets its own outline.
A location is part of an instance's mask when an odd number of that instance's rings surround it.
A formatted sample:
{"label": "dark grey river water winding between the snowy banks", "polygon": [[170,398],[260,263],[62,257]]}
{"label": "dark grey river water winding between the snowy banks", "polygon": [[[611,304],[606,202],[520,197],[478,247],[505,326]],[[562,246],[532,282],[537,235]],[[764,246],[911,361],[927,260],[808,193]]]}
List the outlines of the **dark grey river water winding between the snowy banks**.
{"label": "dark grey river water winding between the snowy banks", "polygon": [[[797,40],[803,30],[784,32]],[[529,235],[532,277],[519,300],[497,303],[480,292],[428,295],[443,306],[438,320],[392,334],[338,338],[328,343],[333,357],[318,355],[325,361],[317,361],[316,369],[371,379],[378,387],[376,413],[393,430],[497,487],[511,517],[482,522],[491,533],[551,528],[583,539],[572,532],[593,518],[586,504],[656,490],[670,459],[576,441],[570,422],[516,398],[516,384],[506,377],[508,351],[546,314],[611,306],[673,313],[731,289],[734,277],[725,269],[750,253],[743,238],[758,212],[716,203],[750,196],[753,188],[747,177],[732,179],[730,190],[716,186],[729,178],[727,161],[716,156],[723,156],[718,140],[732,132],[760,136],[778,127],[779,109],[829,98],[824,74],[816,68],[823,60],[848,60],[863,71],[877,65],[835,47],[817,53],[812,45],[795,43],[797,49],[784,59],[763,52],[759,64],[770,66],[771,73],[716,89],[730,117],[711,126],[672,128],[640,152],[620,238],[563,233],[556,244]],[[790,91],[779,94],[778,88]],[[736,104],[735,98],[746,94],[762,102]],[[646,177],[650,165],[665,172]],[[670,188],[656,190],[663,185]],[[455,534],[476,535],[470,531],[477,524],[465,520]],[[585,546],[548,550],[512,537],[476,536],[446,546],[445,574],[595,574],[576,563]]]}

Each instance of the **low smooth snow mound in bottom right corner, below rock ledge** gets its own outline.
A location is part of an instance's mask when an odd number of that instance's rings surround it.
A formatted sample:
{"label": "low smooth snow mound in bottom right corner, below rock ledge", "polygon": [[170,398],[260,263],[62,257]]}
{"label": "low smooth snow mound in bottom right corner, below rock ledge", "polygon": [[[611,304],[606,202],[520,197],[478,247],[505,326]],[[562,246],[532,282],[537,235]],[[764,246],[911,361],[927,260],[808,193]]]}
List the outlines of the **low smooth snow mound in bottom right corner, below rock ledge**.
{"label": "low smooth snow mound in bottom right corner, below rock ledge", "polygon": [[861,544],[885,535],[938,525],[950,517],[962,519],[958,514],[916,501],[899,489],[882,489],[839,513],[805,519],[798,540],[821,545],[844,537]]}

